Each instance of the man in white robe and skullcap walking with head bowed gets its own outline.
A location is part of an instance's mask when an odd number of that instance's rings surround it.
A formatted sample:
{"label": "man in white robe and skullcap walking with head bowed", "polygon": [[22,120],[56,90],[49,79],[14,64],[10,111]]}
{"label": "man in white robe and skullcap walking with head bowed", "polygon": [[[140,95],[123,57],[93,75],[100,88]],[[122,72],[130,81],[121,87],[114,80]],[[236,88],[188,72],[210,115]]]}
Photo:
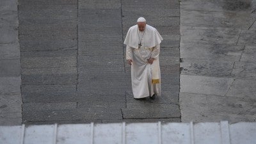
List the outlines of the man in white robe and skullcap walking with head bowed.
{"label": "man in white robe and skullcap walking with head bowed", "polygon": [[131,65],[132,93],[134,99],[155,99],[161,93],[159,67],[160,43],[163,40],[156,28],[140,17],[127,32],[124,44],[126,60]]}

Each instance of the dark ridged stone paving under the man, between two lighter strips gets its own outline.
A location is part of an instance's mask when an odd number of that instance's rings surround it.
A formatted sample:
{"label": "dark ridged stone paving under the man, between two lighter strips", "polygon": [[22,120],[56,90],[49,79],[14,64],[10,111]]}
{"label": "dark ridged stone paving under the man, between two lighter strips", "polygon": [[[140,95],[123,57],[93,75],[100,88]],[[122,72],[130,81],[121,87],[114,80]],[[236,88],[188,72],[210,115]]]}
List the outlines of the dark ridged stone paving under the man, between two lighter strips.
{"label": "dark ridged stone paving under the man, between two lighter strips", "polygon": [[[24,124],[180,122],[179,1],[145,2],[19,0]],[[133,99],[124,60],[140,16],[164,37],[156,100]]]}

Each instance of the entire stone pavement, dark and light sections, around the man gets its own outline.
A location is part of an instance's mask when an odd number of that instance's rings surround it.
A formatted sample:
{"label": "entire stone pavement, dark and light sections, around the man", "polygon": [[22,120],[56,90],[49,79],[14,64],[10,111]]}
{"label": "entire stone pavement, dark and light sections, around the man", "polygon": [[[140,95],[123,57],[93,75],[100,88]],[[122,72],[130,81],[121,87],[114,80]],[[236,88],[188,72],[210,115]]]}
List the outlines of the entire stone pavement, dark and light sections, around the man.
{"label": "entire stone pavement, dark and light sections, around the man", "polygon": [[[1,0],[0,124],[255,121],[255,10],[255,0]],[[132,99],[125,63],[140,16],[164,38],[156,100]]]}

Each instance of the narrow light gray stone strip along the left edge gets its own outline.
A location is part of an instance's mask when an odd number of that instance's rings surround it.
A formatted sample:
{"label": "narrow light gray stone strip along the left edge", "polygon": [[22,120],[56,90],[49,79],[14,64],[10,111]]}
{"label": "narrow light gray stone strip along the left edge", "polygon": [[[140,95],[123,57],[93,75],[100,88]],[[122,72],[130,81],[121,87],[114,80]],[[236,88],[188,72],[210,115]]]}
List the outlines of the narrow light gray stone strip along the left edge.
{"label": "narrow light gray stone strip along the left edge", "polygon": [[0,1],[0,125],[21,124],[17,1]]}

